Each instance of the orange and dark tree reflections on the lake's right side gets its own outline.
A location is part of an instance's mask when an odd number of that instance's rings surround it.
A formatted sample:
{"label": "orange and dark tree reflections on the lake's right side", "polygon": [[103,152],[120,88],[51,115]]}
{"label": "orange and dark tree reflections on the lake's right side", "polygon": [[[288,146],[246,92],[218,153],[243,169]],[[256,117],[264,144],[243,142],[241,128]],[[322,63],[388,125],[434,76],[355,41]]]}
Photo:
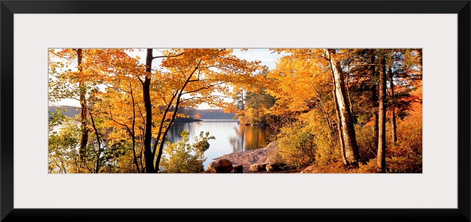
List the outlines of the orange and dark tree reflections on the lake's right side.
{"label": "orange and dark tree reflections on the lake's right side", "polygon": [[231,137],[230,143],[234,149],[234,152],[253,150],[257,148],[263,148],[271,141],[269,136],[272,133],[272,129],[267,126],[244,126],[239,125],[234,128],[237,137]]}

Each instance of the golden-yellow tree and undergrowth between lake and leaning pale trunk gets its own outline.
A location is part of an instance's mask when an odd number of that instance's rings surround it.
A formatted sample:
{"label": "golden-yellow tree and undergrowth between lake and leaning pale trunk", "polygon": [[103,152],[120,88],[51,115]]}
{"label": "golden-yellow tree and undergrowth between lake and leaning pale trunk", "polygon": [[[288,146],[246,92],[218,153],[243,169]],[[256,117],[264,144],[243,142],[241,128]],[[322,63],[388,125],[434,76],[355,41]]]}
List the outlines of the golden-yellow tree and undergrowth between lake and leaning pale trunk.
{"label": "golden-yellow tree and undergrowth between lake and leaning pale trunk", "polygon": [[285,150],[282,155],[295,165],[314,159],[331,162],[334,156],[340,156],[334,140],[338,137],[338,120],[332,94],[332,70],[321,50],[283,51],[290,55],[281,57],[276,69],[268,74],[272,79],[268,89],[276,98],[270,111],[282,120],[277,136],[280,150]]}

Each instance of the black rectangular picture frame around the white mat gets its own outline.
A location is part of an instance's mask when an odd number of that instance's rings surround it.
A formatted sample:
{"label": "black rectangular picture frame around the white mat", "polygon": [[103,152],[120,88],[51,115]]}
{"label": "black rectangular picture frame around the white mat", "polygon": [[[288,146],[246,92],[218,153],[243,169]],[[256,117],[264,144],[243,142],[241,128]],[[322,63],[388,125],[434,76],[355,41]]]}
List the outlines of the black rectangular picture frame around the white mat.
{"label": "black rectangular picture frame around the white mat", "polygon": [[[152,1],[1,0],[0,220],[10,221],[470,221],[470,0]],[[262,5],[261,7],[258,5]],[[230,7],[229,7],[230,6]],[[41,13],[418,13],[458,15],[457,209],[13,208],[13,15]]]}

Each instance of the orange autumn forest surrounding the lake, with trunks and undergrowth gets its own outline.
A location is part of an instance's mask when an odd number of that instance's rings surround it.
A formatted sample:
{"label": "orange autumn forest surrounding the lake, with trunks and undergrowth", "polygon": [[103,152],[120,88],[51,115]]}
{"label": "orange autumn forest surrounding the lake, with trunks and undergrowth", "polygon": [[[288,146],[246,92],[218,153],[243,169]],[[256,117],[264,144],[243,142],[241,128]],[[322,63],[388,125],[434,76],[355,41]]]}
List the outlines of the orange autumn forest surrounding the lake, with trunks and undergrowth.
{"label": "orange autumn forest surrounding the lake, with trunks and undergrowth", "polygon": [[79,104],[49,111],[49,173],[202,172],[211,132],[166,137],[203,103],[271,126],[290,169],[422,172],[422,49],[236,50],[49,49],[50,106]]}

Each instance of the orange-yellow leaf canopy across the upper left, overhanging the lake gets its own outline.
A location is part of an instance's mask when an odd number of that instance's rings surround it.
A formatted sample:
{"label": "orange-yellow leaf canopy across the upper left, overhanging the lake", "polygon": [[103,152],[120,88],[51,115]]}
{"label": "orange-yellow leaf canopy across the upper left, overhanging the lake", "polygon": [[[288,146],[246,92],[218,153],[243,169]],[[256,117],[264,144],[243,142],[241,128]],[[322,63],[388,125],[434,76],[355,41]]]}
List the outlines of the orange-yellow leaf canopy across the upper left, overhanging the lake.
{"label": "orange-yellow leaf canopy across the upper left, overhanging the lake", "polygon": [[[96,110],[108,115],[107,124],[113,128],[130,126],[130,116],[136,115],[136,125],[143,125],[145,118],[142,81],[151,79],[150,96],[153,105],[154,122],[159,125],[162,107],[175,106],[176,93],[182,93],[181,103],[197,106],[202,102],[226,106],[223,96],[231,93],[229,84],[237,86],[267,86],[270,82],[262,76],[254,76],[264,68],[260,61],[246,61],[233,54],[233,49],[165,49],[154,50],[153,71],[145,72],[145,64],[135,55],[133,49],[82,49],[82,62],[77,66],[76,49],[51,49],[50,70],[57,71],[63,82],[80,83],[87,87],[108,89],[100,97]],[[146,51],[138,49],[137,53]],[[157,53],[157,54],[156,54]],[[71,61],[75,65],[68,64]],[[63,67],[77,66],[66,71]],[[112,89],[111,89],[112,88]],[[89,89],[88,93],[91,92]],[[132,92],[132,94],[131,94]],[[215,94],[218,94],[217,96]],[[87,96],[89,96],[88,94]],[[97,100],[98,101],[98,100]],[[134,103],[134,107],[133,107]],[[103,114],[103,115],[105,115]],[[154,116],[153,116],[154,117]],[[163,117],[164,119],[166,117]]]}

